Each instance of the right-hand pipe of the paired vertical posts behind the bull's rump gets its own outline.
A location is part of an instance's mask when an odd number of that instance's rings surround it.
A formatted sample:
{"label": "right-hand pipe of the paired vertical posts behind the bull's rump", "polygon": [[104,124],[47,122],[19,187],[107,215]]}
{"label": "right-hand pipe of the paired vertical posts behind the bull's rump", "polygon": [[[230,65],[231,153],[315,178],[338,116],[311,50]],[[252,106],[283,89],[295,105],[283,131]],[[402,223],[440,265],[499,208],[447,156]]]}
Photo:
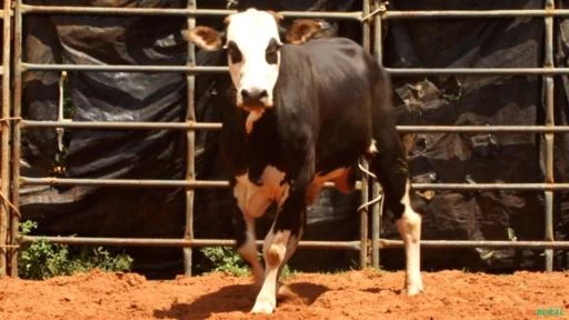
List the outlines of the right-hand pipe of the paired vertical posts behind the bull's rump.
{"label": "right-hand pipe of the paired vertical posts behind the bull's rump", "polygon": [[[373,11],[379,10],[383,3],[380,0],[373,0]],[[385,8],[385,7],[383,7]],[[381,43],[381,14],[378,13],[373,17],[373,57],[379,64],[382,64],[382,43]],[[378,197],[382,192],[381,186],[378,181],[373,181],[371,187],[372,198]],[[371,209],[371,264],[373,268],[379,269],[379,237],[381,232],[381,213],[383,201],[375,203]]]}

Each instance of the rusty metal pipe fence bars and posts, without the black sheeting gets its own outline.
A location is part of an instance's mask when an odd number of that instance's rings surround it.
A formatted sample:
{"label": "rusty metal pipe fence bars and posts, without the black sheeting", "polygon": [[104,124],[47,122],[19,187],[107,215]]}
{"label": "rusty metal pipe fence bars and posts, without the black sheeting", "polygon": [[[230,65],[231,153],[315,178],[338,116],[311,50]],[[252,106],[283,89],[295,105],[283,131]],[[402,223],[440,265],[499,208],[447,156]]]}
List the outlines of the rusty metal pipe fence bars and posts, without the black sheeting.
{"label": "rusty metal pipe fence bars and posts, without the black sheeting", "polygon": [[[188,26],[194,26],[196,17],[214,16],[224,17],[231,10],[198,9],[196,0],[188,0],[184,9],[160,8],[97,8],[97,7],[51,7],[30,6],[22,0],[14,0],[14,8],[6,0],[1,17],[3,18],[3,59],[2,59],[2,121],[1,121],[1,197],[0,206],[0,274],[18,274],[17,248],[40,237],[18,237],[19,190],[22,184],[37,186],[122,186],[132,188],[160,187],[186,188],[186,230],[183,239],[132,239],[132,238],[81,238],[81,237],[41,237],[53,243],[67,244],[100,244],[100,246],[139,246],[139,247],[182,247],[184,252],[186,273],[191,272],[191,249],[211,246],[232,246],[232,240],[223,239],[194,239],[193,238],[193,190],[196,188],[228,188],[227,181],[196,180],[193,157],[188,157],[186,180],[139,180],[139,179],[63,179],[63,178],[31,178],[20,176],[22,130],[29,128],[73,128],[73,129],[128,129],[128,130],[186,130],[188,153],[194,154],[196,130],[219,130],[220,123],[197,122],[194,112],[194,81],[196,76],[206,72],[227,72],[227,67],[196,66],[194,47],[188,44],[187,66],[90,66],[90,64],[34,64],[22,61],[22,17],[24,14],[94,14],[94,16],[177,16],[187,17]],[[552,270],[552,249],[569,249],[569,241],[555,241],[552,223],[553,191],[569,190],[569,183],[553,181],[553,137],[555,133],[569,132],[569,126],[555,126],[553,122],[553,76],[569,74],[569,68],[556,68],[552,60],[553,23],[555,17],[569,17],[569,10],[556,9],[553,0],[547,0],[542,10],[461,10],[461,11],[388,11],[380,0],[363,0],[362,11],[357,12],[280,12],[287,18],[325,18],[348,19],[362,23],[363,47],[375,54],[378,61],[382,60],[381,23],[391,19],[441,19],[441,18],[511,18],[535,17],[543,18],[546,26],[545,61],[542,68],[445,68],[445,69],[392,69],[388,68],[392,77],[399,76],[440,76],[440,74],[537,74],[543,77],[545,83],[545,126],[399,126],[400,132],[436,133],[436,132],[535,132],[542,133],[546,141],[543,159],[546,159],[546,179],[542,183],[413,183],[416,190],[542,190],[546,196],[545,206],[545,241],[456,241],[456,240],[423,240],[423,248],[531,248],[546,249],[546,270]],[[13,16],[12,28],[10,17]],[[372,28],[373,27],[373,28]],[[13,82],[10,81],[11,64],[11,32],[13,29]],[[373,48],[371,48],[373,39]],[[122,72],[182,72],[187,74],[188,83],[188,117],[183,123],[157,122],[70,122],[70,121],[33,121],[21,119],[22,103],[22,73],[27,71],[122,71]],[[11,90],[10,86],[13,86]],[[13,107],[10,101],[13,94]],[[60,106],[61,108],[61,106]],[[11,139],[11,144],[10,144]],[[10,162],[11,161],[11,162]],[[11,168],[10,168],[11,163]],[[328,184],[329,186],[329,184]],[[368,202],[369,190],[372,198],[380,191],[377,183],[371,183],[365,177],[359,183],[362,203]],[[10,197],[8,196],[10,194]],[[8,199],[9,197],[9,199]],[[10,200],[10,201],[8,201]],[[368,211],[372,212],[372,234],[369,240]],[[380,249],[402,247],[400,240],[381,239],[379,223],[381,221],[380,206],[365,207],[360,213],[360,239],[353,241],[301,241],[301,248],[326,248],[359,250],[360,266],[368,262],[368,249],[371,250],[371,264],[376,268],[380,263]],[[262,241],[258,241],[260,244]],[[371,247],[371,248],[370,248]]]}

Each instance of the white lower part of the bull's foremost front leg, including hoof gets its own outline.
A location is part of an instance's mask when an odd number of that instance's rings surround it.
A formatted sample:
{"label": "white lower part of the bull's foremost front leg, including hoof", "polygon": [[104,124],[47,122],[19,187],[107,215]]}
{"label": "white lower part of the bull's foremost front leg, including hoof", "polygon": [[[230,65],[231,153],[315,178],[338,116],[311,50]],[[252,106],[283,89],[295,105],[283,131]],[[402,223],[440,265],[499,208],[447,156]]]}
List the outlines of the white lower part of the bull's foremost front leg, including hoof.
{"label": "white lower part of the bull's foremost front leg, including hoof", "polygon": [[277,233],[269,231],[263,243],[264,257],[264,281],[261,291],[254,301],[252,313],[270,314],[277,307],[277,281],[279,268],[287,256],[287,244],[290,238],[290,230]]}

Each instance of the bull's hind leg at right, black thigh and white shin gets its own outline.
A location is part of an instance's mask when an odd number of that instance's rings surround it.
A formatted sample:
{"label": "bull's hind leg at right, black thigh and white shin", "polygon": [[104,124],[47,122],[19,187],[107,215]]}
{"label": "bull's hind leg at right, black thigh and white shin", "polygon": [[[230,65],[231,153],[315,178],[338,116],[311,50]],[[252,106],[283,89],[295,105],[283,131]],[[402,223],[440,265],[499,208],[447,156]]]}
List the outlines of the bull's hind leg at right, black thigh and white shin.
{"label": "bull's hind leg at right, black thigh and white shin", "polygon": [[397,221],[397,229],[403,240],[406,253],[406,290],[412,296],[423,290],[421,279],[421,216],[411,208],[407,162],[399,149],[373,153],[371,169],[378,176],[383,188],[385,206],[391,210]]}

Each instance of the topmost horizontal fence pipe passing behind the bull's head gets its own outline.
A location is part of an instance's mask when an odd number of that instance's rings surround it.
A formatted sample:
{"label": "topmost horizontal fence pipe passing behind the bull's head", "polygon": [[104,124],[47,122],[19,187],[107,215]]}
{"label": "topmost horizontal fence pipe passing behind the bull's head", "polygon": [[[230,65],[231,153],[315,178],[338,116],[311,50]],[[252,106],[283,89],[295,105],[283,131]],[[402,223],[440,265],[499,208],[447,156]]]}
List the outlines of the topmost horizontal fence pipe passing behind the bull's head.
{"label": "topmost horizontal fence pipe passing behind the bull's head", "polygon": [[[236,10],[188,9],[188,8],[111,8],[111,7],[56,7],[22,4],[22,13],[64,13],[98,16],[179,16],[179,17],[226,17]],[[279,11],[286,18],[322,18],[359,20],[361,11],[327,12],[327,11]]]}

